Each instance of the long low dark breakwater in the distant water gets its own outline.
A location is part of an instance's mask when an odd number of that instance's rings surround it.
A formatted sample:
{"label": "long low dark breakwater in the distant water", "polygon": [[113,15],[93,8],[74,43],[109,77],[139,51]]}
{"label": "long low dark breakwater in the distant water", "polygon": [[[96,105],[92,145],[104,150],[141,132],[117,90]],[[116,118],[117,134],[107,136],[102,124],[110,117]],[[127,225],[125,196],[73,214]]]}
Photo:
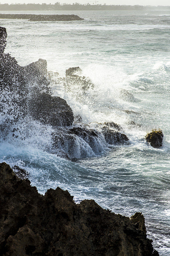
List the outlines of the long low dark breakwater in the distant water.
{"label": "long low dark breakwater in the distant water", "polygon": [[29,21],[71,21],[84,20],[78,15],[43,15],[43,14],[4,14],[0,13],[0,19],[29,19]]}

